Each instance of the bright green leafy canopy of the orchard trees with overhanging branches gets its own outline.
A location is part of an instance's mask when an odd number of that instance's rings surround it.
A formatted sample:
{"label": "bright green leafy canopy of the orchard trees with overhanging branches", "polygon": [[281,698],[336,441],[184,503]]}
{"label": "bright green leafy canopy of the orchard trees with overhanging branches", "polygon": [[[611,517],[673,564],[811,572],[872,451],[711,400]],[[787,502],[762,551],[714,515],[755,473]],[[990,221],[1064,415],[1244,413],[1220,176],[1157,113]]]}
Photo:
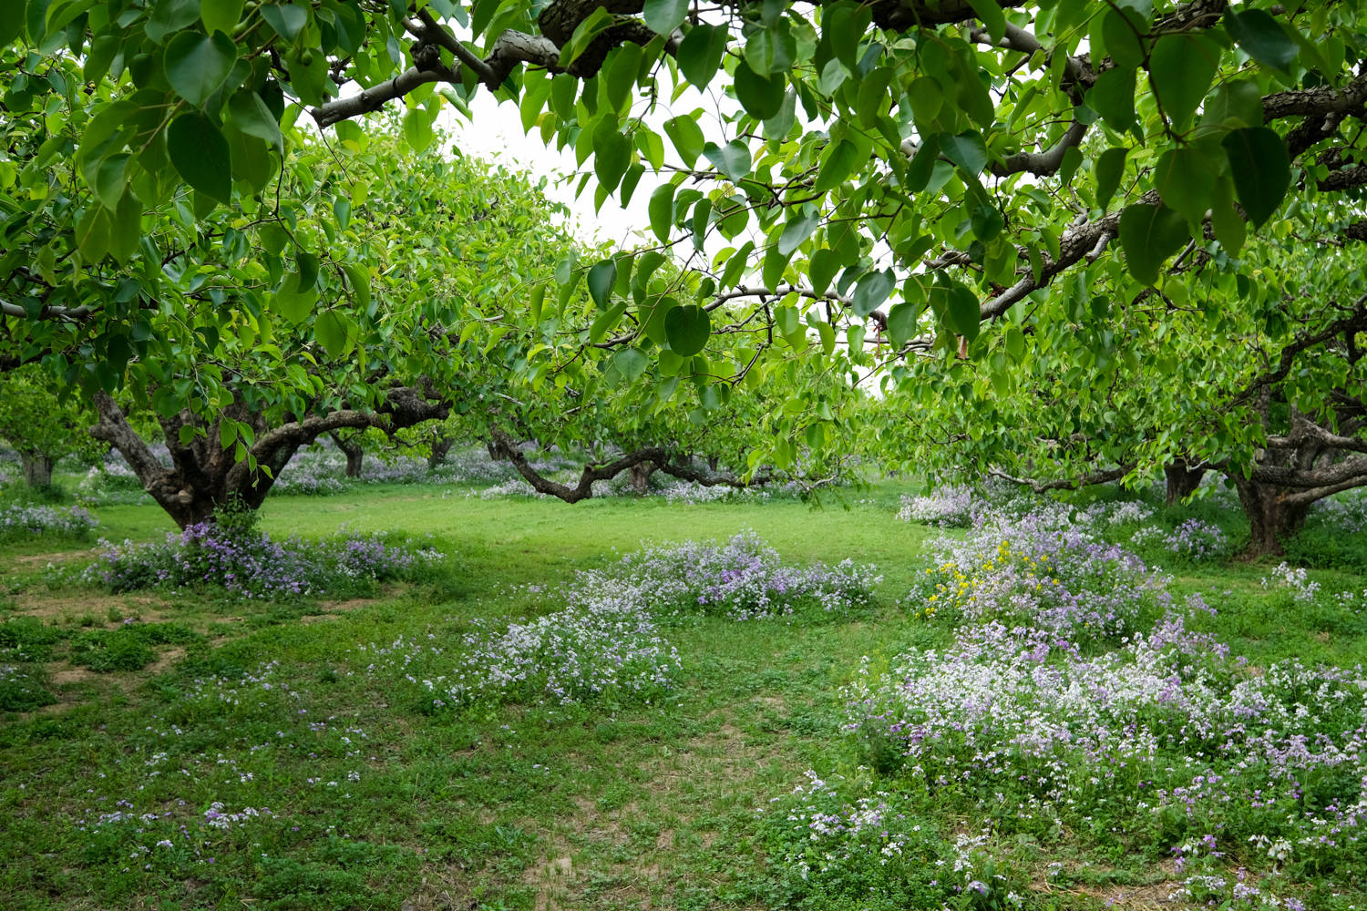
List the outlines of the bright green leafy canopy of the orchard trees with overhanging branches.
{"label": "bright green leafy canopy of the orchard trees with overhanging branches", "polygon": [[[1042,485],[1208,466],[1275,549],[1367,483],[1364,18],[8,3],[0,365],[97,395],[116,444],[120,396],[153,408],[178,519],[227,489],[197,471],[455,410],[627,456],[730,422],[742,470],[856,438]],[[443,163],[478,93],[573,149],[584,201],[649,193],[642,243],[577,249]]]}

